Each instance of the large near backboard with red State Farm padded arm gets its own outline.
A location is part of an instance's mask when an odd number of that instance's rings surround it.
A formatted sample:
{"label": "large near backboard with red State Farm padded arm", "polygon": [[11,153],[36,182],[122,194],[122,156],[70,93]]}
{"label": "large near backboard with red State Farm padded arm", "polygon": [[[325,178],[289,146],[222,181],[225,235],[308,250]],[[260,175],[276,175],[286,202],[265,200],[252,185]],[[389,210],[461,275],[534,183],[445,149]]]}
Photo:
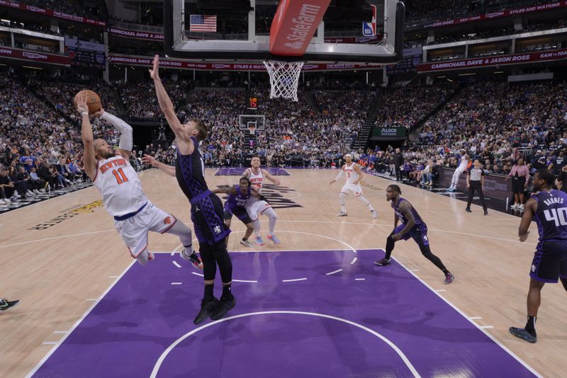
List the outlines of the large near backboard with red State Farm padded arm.
{"label": "large near backboard with red State Farm padded arm", "polygon": [[[327,4],[320,6],[322,18],[309,17],[319,9],[315,3]],[[285,12],[293,6],[298,16],[290,17],[299,32],[283,35],[288,32],[278,30],[281,16],[289,16]],[[403,52],[404,14],[399,0],[165,0],[165,51],[168,57],[207,62],[390,64]],[[278,35],[294,46],[293,38],[307,28],[301,20],[315,20],[304,52],[274,54]]]}

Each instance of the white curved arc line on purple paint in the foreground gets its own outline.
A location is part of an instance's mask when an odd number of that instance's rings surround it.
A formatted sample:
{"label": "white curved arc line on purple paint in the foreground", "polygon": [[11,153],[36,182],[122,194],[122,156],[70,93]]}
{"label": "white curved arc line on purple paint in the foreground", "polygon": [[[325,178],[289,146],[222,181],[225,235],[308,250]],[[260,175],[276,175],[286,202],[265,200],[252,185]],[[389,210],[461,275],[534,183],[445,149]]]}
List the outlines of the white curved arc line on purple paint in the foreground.
{"label": "white curved arc line on purple paint in the foreground", "polygon": [[402,352],[402,350],[400,350],[400,348],[398,348],[394,343],[391,342],[391,340],[388,340],[388,338],[382,336],[380,333],[371,330],[368,327],[362,326],[359,323],[354,323],[354,321],[349,321],[347,319],[341,319],[341,318],[337,318],[336,316],[330,316],[330,315],[325,315],[325,314],[318,314],[315,312],[303,312],[303,311],[263,311],[263,312],[252,312],[249,314],[240,314],[240,315],[235,315],[235,316],[230,316],[228,318],[225,319],[220,319],[218,321],[213,321],[211,323],[207,323],[204,326],[201,326],[199,328],[193,329],[193,331],[190,331],[188,333],[186,333],[184,336],[181,336],[180,338],[178,338],[177,340],[174,341],[174,343],[172,343],[172,345],[169,345],[167,347],[167,349],[164,351],[164,353],[162,353],[162,355],[159,356],[159,359],[157,360],[157,362],[154,365],[154,369],[152,370],[152,374],[150,374],[151,378],[155,378],[157,376],[157,372],[159,372],[159,367],[162,366],[162,363],[164,362],[165,358],[167,357],[167,355],[169,354],[169,352],[171,352],[177,345],[179,345],[179,343],[181,343],[183,340],[185,340],[186,338],[189,338],[189,336],[193,335],[194,333],[197,333],[198,331],[203,330],[204,328],[213,326],[215,324],[218,324],[220,322],[223,321],[229,321],[232,319],[238,319],[238,318],[242,318],[244,316],[254,316],[254,315],[267,315],[267,314],[294,314],[294,315],[310,315],[310,316],[320,316],[321,318],[327,318],[327,319],[332,319],[332,320],[336,320],[336,321],[342,321],[343,323],[347,323],[351,326],[355,326],[358,328],[361,328],[362,330],[371,333],[372,335],[376,336],[377,338],[380,338],[381,340],[383,340],[384,343],[388,344],[390,346],[390,348],[392,348],[395,353],[398,353],[398,355],[400,356],[400,359],[405,363],[405,366],[408,367],[408,369],[410,370],[410,372],[412,372],[414,377],[421,377],[420,374],[417,372],[417,370],[415,370],[415,367],[413,367],[412,363],[410,362],[410,360],[408,359],[408,357],[405,356],[405,354]]}

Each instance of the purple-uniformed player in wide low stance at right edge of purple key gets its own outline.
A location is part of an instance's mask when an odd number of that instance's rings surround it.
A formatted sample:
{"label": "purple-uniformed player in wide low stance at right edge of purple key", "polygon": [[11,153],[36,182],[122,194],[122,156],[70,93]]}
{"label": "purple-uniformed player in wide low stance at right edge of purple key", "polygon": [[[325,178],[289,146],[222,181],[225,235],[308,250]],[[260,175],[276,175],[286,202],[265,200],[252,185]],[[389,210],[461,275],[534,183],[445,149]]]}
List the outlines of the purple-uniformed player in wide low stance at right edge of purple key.
{"label": "purple-uniformed player in wide low stance at right edge of purple key", "polygon": [[[412,238],[418,246],[420,251],[427,260],[434,263],[437,268],[443,271],[445,275],[444,282],[450,284],[455,279],[454,275],[445,268],[440,258],[431,253],[430,240],[427,239],[427,225],[417,214],[417,211],[412,207],[408,200],[400,197],[402,190],[398,185],[390,185],[386,188],[386,200],[392,201],[392,208],[394,210],[394,230],[386,240],[386,256],[382,260],[374,261],[376,265],[390,265],[390,256],[394,249],[394,244],[400,239],[408,240]],[[398,226],[398,221],[402,224]]]}

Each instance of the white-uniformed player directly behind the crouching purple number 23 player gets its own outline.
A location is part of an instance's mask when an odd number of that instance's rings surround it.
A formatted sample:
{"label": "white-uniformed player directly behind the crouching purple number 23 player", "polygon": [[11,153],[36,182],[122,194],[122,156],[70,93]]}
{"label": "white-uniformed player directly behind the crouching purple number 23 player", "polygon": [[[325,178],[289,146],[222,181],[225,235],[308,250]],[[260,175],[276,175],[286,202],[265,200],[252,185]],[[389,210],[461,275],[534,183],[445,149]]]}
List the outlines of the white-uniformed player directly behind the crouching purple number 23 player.
{"label": "white-uniformed player directly behind the crouching purple number 23 player", "polygon": [[[272,183],[279,185],[279,180],[266,171],[260,168],[260,158],[259,156],[252,156],[252,161],[250,161],[250,168],[247,168],[242,176],[249,179],[250,184],[257,189],[258,193],[262,193],[262,185],[264,185],[264,179],[271,181]],[[259,215],[266,215],[269,218],[269,232],[268,239],[274,242],[274,244],[280,244],[276,235],[274,235],[274,229],[276,228],[276,221],[278,216],[271,205],[265,200],[261,200],[256,197],[250,197],[246,202],[245,208],[248,212],[250,219],[254,222],[254,236],[256,237],[256,244],[259,246],[264,246],[264,241],[262,236],[260,236],[260,220]]]}

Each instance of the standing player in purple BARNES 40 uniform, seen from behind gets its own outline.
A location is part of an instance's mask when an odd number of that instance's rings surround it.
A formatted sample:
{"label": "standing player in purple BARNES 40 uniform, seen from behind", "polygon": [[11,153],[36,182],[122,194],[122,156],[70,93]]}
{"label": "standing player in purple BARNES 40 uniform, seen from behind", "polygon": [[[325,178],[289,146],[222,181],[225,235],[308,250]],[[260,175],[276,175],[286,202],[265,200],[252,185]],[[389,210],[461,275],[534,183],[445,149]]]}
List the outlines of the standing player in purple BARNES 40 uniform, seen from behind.
{"label": "standing player in purple BARNES 40 uniform, seen from behind", "polygon": [[520,241],[526,241],[532,219],[537,223],[539,242],[529,270],[527,293],[527,323],[524,328],[510,327],[510,333],[537,342],[536,319],[541,304],[541,288],[546,282],[561,280],[567,290],[567,194],[552,190],[554,175],[539,169],[534,175],[534,195],[526,202],[522,222],[518,229]]}

